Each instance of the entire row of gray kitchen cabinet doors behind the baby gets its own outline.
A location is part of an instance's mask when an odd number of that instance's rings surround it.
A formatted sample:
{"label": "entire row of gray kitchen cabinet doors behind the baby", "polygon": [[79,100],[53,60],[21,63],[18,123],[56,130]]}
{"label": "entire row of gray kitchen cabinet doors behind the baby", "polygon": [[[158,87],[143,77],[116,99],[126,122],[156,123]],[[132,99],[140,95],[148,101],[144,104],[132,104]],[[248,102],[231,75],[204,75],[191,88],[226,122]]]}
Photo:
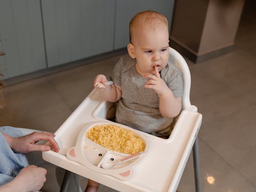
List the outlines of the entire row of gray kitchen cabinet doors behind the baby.
{"label": "entire row of gray kitchen cabinet doors behind the baby", "polygon": [[172,21],[174,0],[0,0],[4,79],[125,48],[129,22],[155,10]]}

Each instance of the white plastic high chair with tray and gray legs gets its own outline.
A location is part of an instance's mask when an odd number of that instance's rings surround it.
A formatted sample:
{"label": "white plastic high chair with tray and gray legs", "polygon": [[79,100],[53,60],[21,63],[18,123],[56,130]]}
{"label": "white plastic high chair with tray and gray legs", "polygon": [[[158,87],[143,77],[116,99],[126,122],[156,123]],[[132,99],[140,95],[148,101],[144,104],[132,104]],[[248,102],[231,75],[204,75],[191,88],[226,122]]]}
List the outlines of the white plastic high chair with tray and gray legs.
{"label": "white plastic high chair with tray and gray legs", "polygon": [[66,191],[71,172],[89,178],[119,191],[176,191],[189,154],[193,148],[196,191],[200,191],[198,131],[202,115],[197,107],[190,104],[190,73],[184,58],[174,49],[169,48],[169,61],[178,67],[183,78],[182,111],[168,139],[162,139],[142,133],[148,139],[149,153],[134,168],[134,176],[127,181],[119,180],[107,174],[96,172],[81,163],[67,158],[70,148],[77,145],[76,141],[81,130],[88,122],[106,120],[107,112],[113,103],[101,99],[94,89],[78,106],[71,116],[56,131],[55,140],[60,152],[43,152],[44,160],[66,169],[60,191]]}

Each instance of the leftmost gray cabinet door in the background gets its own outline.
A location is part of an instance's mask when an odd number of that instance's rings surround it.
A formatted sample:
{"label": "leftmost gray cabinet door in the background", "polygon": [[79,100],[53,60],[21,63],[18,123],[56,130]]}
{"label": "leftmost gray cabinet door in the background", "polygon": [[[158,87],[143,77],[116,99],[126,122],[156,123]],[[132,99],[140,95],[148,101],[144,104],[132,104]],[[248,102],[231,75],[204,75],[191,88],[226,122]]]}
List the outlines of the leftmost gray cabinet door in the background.
{"label": "leftmost gray cabinet door in the background", "polygon": [[46,68],[39,0],[0,0],[0,24],[4,79]]}

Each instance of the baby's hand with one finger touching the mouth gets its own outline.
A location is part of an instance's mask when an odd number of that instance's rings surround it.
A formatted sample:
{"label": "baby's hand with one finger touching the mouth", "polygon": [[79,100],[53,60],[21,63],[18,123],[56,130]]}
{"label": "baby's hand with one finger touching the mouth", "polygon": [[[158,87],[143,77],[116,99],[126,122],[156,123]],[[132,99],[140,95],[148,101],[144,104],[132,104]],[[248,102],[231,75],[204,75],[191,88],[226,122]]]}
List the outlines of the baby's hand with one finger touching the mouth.
{"label": "baby's hand with one finger touching the mouth", "polygon": [[169,89],[164,80],[160,77],[157,67],[155,67],[154,74],[147,74],[143,77],[148,78],[145,88],[155,90],[159,96],[163,95],[164,92]]}

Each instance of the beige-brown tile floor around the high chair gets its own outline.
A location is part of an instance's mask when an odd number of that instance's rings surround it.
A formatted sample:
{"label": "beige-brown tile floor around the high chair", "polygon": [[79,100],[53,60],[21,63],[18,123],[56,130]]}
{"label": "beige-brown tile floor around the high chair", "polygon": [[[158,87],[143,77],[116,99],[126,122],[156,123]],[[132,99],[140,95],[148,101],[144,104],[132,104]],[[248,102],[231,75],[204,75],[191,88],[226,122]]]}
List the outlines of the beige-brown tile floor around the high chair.
{"label": "beige-brown tile floor around the high chair", "polygon": [[[196,65],[186,59],[191,72],[191,103],[203,115],[199,153],[201,189],[206,192],[256,191],[256,4],[248,2],[231,53]],[[92,91],[94,76],[109,76],[118,58],[6,87],[0,125],[55,132]],[[44,191],[58,191],[55,172],[63,170],[43,166],[48,169]],[[209,178],[215,182],[209,184]],[[86,182],[83,178],[83,187]],[[178,189],[195,191],[191,155]],[[71,184],[69,191],[77,189]],[[99,191],[115,190],[100,186]]]}

